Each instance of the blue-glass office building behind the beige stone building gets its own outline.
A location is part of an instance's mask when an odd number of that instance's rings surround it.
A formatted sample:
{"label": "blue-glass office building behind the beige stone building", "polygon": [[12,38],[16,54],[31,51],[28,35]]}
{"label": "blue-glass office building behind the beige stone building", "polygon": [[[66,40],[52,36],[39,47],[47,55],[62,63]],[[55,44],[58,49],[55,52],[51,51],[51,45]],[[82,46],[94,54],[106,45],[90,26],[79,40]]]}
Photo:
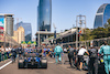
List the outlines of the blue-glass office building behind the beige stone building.
{"label": "blue-glass office building behind the beige stone building", "polygon": [[16,23],[14,25],[14,30],[16,31],[19,27],[23,27],[24,31],[25,31],[25,41],[32,41],[32,28],[31,28],[31,23]]}

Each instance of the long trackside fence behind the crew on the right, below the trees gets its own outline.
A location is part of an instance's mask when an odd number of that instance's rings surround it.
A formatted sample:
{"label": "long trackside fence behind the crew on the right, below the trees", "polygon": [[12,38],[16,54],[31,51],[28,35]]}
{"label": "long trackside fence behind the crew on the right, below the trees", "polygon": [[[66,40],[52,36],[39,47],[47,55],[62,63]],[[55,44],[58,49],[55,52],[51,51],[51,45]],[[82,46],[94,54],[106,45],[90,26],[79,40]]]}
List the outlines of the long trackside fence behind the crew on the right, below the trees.
{"label": "long trackside fence behind the crew on the right, below the trees", "polygon": [[[88,47],[90,47],[91,42],[92,42],[92,46],[100,47],[105,41],[107,41],[108,44],[110,45],[110,38],[102,38],[102,39],[95,39],[95,40],[88,40],[88,41],[79,41],[79,42],[77,42],[77,44],[78,44],[77,47],[85,45],[88,49]],[[76,42],[62,43],[61,45],[62,46],[72,45],[72,46],[76,47]]]}

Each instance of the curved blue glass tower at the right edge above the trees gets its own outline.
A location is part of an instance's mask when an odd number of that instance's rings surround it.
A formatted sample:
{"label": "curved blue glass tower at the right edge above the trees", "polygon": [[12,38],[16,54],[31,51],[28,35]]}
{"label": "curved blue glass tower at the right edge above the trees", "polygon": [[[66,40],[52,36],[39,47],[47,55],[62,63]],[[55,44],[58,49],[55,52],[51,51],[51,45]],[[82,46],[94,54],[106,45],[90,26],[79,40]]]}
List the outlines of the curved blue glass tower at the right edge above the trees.
{"label": "curved blue glass tower at the right edge above the trees", "polygon": [[94,29],[97,29],[98,27],[105,28],[108,19],[110,19],[110,3],[105,3],[98,9],[96,13]]}

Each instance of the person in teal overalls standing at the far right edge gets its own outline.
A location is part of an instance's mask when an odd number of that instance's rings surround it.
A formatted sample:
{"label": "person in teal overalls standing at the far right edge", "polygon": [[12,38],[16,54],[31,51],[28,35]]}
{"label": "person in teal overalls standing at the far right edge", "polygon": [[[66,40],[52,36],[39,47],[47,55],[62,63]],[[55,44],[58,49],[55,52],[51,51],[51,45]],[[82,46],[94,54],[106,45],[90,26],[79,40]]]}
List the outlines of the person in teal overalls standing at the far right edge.
{"label": "person in teal overalls standing at the far right edge", "polygon": [[110,46],[107,42],[105,42],[105,45],[100,47],[99,54],[101,55],[103,53],[103,63],[105,63],[105,71],[107,74],[110,72]]}

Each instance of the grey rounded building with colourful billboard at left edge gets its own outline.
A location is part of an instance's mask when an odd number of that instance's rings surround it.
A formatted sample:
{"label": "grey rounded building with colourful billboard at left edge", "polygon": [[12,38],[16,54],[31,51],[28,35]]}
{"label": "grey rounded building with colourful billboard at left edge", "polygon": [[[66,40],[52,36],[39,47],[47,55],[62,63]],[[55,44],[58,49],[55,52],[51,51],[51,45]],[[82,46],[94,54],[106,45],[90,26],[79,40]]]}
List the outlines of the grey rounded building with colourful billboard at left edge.
{"label": "grey rounded building with colourful billboard at left edge", "polygon": [[0,14],[0,33],[13,35],[13,14]]}

